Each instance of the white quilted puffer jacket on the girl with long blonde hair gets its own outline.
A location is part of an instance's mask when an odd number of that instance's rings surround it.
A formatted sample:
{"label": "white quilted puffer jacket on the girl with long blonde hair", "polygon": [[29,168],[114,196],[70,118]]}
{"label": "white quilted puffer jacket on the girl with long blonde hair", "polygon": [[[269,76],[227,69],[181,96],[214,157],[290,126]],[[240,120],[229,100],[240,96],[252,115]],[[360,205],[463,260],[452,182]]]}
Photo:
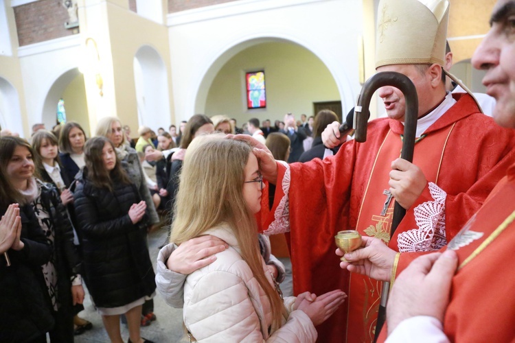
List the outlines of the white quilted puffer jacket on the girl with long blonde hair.
{"label": "white quilted puffer jacket on the girl with long blonde hair", "polygon": [[[183,318],[198,342],[314,342],[317,331],[300,310],[292,311],[295,297],[284,299],[283,325],[269,332],[271,306],[249,265],[240,256],[238,242],[228,227],[206,232],[223,239],[229,248],[216,261],[187,276]],[[268,281],[273,279],[263,261]]]}

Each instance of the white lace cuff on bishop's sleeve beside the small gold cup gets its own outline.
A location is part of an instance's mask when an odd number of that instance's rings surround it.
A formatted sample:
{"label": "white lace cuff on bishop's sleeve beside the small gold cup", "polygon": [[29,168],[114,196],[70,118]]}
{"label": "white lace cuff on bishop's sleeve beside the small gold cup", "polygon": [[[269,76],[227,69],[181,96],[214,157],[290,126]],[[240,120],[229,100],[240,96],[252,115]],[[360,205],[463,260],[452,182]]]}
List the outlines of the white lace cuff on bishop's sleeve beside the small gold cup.
{"label": "white lace cuff on bishop's sleeve beside the small gold cup", "polygon": [[424,202],[413,209],[417,227],[400,233],[397,244],[400,252],[438,250],[447,244],[445,233],[445,200],[447,193],[429,182],[434,201]]}

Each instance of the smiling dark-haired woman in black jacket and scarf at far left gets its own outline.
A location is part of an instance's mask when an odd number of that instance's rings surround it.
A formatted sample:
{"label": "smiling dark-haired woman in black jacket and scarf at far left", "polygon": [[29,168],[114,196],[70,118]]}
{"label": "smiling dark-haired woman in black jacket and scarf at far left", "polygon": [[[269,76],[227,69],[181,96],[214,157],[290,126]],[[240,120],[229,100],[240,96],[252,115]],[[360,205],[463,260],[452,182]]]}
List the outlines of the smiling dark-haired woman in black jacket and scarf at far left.
{"label": "smiling dark-haired woman in black jacket and scarf at far left", "polygon": [[23,201],[32,206],[47,240],[54,244],[52,257],[41,266],[56,322],[54,329],[49,331],[50,340],[73,342],[73,305],[84,300],[80,259],[58,190],[34,177],[34,156],[36,154],[25,139],[3,139],[0,163],[7,165],[8,179],[21,193]]}

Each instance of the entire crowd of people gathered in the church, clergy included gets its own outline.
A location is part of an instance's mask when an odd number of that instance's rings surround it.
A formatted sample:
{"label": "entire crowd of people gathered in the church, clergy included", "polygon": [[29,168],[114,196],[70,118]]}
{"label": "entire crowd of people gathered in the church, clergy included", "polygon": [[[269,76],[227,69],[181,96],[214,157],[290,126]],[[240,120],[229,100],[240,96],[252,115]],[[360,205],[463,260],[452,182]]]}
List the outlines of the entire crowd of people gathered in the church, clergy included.
{"label": "entire crowd of people gathered in the church, clergy included", "polygon": [[[460,84],[446,70],[448,5],[379,3],[398,20],[378,37],[376,70],[417,92],[413,161],[399,158],[406,99],[393,86],[379,88],[387,117],[368,123],[365,143],[329,110],[241,129],[194,115],[179,130],[142,126],[137,140],[116,117],[90,139],[73,122],[57,135],[36,124],[30,143],[3,131],[0,341],[73,342],[87,325],[83,283],[111,342],[123,342],[120,318],[129,342],[150,342],[139,328],[156,318],[156,289],[199,342],[512,341],[515,1],[497,1],[472,58],[495,121],[466,88],[448,88]],[[158,212],[169,238],[155,273]],[[343,229],[362,245],[335,254]],[[280,292],[267,237],[286,232],[295,297]]]}

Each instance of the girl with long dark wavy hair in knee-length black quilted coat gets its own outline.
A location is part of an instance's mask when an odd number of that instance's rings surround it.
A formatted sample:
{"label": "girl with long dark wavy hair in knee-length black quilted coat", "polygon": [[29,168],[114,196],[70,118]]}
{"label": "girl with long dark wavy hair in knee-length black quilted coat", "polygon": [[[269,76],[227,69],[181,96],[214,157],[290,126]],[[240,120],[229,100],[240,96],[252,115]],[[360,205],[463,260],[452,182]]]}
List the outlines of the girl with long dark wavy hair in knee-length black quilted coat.
{"label": "girl with long dark wavy hair in knee-length black quilted coat", "polygon": [[106,137],[90,139],[84,157],[74,204],[86,283],[111,342],[122,342],[121,314],[129,342],[139,342],[141,305],[156,287],[146,246],[146,202]]}

